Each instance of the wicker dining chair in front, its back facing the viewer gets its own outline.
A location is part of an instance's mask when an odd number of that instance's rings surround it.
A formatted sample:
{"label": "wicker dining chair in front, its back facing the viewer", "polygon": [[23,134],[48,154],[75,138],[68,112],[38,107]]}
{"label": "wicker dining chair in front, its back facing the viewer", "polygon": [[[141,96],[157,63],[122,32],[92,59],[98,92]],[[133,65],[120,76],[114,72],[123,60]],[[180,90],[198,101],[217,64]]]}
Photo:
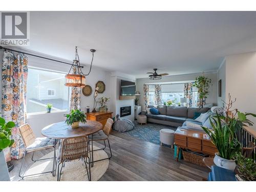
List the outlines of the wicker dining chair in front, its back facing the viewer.
{"label": "wicker dining chair in front, its back facing the viewer", "polygon": [[[89,158],[89,147],[88,147],[88,137],[87,136],[79,136],[79,137],[71,137],[63,139],[61,142],[61,146],[59,147],[58,154],[58,175],[57,181],[60,181],[61,170],[65,166],[65,162],[72,161],[76,159],[83,159],[86,164],[87,176],[89,181],[91,181],[91,168],[90,168],[90,158]],[[89,159],[89,172],[87,168],[86,159]],[[59,171],[59,165],[61,164],[61,168]]]}

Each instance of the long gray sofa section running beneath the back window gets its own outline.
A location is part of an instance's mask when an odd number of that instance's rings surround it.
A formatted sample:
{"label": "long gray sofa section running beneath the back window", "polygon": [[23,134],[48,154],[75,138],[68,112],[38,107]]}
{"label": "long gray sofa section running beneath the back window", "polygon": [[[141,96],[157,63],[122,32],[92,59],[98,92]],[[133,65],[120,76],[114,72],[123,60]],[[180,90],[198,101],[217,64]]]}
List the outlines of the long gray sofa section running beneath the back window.
{"label": "long gray sofa section running beneath the back window", "polygon": [[187,108],[186,106],[158,105],[159,115],[147,113],[147,121],[170,126],[182,126],[185,121],[195,121],[195,112],[206,113],[209,108]]}

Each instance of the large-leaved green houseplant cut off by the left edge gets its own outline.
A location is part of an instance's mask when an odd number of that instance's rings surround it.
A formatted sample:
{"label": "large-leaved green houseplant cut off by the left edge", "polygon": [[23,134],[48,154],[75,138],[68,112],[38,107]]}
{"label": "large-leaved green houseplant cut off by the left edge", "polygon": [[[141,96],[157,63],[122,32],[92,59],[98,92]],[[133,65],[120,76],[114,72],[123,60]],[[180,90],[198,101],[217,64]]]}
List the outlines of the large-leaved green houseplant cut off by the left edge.
{"label": "large-leaved green houseplant cut off by the left edge", "polygon": [[0,152],[5,148],[11,147],[14,140],[11,139],[12,128],[15,126],[13,121],[6,123],[5,119],[0,117]]}

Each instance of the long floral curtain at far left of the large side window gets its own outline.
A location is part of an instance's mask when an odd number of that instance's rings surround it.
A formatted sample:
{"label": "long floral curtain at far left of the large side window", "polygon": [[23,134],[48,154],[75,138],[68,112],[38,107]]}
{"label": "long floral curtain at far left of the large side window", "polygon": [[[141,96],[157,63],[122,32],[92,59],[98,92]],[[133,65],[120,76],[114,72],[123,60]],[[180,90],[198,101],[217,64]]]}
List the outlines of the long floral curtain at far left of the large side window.
{"label": "long floral curtain at far left of the large side window", "polygon": [[6,161],[23,157],[25,147],[18,127],[26,123],[28,58],[26,55],[9,51],[4,52],[2,65],[2,117],[13,121],[11,138],[14,143],[4,151]]}

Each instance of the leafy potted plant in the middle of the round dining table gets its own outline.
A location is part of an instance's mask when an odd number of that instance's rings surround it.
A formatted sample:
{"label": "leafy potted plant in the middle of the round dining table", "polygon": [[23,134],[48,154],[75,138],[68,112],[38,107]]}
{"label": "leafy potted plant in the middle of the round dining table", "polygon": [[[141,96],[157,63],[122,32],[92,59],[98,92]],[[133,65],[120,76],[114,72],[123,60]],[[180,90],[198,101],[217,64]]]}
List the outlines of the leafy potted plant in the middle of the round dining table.
{"label": "leafy potted plant in the middle of the round dining table", "polygon": [[71,125],[72,128],[77,128],[79,126],[79,122],[86,123],[86,115],[80,110],[71,110],[70,114],[66,114],[64,116],[67,117],[65,122],[68,125]]}

